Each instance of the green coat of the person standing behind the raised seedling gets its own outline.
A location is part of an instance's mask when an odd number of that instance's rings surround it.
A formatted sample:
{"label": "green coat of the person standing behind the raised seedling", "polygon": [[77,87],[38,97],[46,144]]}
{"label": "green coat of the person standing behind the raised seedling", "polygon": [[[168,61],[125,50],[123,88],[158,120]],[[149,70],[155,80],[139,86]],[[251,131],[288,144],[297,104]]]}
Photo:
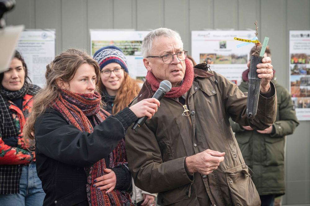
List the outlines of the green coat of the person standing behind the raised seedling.
{"label": "green coat of the person standing behind the raised seedling", "polygon": [[[238,123],[232,130],[239,144],[246,165],[253,170],[252,177],[259,195],[284,195],[284,147],[285,136],[299,125],[290,93],[272,80],[277,90],[277,118],[273,134],[261,134],[256,130],[246,131]],[[248,91],[248,82],[239,85],[242,92]]]}

